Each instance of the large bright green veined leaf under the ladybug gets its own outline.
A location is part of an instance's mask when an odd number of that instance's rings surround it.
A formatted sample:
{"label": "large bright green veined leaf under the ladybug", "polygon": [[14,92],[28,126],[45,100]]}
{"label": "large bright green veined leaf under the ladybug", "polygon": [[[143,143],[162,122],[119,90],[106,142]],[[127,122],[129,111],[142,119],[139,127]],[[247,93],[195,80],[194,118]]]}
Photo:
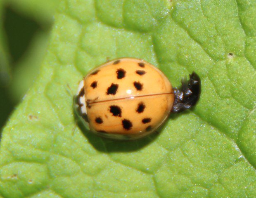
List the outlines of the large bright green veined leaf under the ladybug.
{"label": "large bright green veined leaf under the ladybug", "polygon": [[[254,0],[62,1],[2,133],[0,196],[255,197],[255,11]],[[199,103],[136,141],[81,130],[67,85],[118,57],[149,61],[173,86],[197,72]]]}

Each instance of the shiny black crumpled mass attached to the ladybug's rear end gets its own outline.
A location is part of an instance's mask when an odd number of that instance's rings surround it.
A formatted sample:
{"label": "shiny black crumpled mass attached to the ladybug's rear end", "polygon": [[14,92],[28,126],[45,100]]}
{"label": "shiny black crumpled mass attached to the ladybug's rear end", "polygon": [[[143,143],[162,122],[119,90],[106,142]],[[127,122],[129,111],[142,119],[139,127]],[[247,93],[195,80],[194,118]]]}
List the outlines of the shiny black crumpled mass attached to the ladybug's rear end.
{"label": "shiny black crumpled mass attached to the ladybug's rear end", "polygon": [[190,79],[182,79],[181,86],[174,88],[175,99],[173,102],[173,113],[179,113],[194,106],[199,100],[201,93],[201,80],[193,71]]}

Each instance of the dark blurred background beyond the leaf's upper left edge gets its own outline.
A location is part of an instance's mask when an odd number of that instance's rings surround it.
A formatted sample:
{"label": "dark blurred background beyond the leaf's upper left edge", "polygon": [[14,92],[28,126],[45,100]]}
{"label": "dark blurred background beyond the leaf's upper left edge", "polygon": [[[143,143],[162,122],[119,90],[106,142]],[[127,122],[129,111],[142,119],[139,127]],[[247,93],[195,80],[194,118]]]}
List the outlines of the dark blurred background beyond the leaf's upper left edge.
{"label": "dark blurred background beyond the leaf's upper left edge", "polygon": [[0,54],[0,133],[37,77],[52,22],[49,17],[45,21],[36,20],[8,4],[2,7],[0,48],[4,51]]}

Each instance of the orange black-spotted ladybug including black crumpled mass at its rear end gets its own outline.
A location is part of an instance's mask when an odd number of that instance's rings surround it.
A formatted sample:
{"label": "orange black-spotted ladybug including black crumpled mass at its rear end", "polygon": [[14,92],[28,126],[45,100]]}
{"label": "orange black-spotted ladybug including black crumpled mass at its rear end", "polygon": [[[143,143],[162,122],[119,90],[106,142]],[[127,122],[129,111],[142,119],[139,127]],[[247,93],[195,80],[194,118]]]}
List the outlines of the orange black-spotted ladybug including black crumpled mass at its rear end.
{"label": "orange black-spotted ladybug including black crumpled mass at its rear end", "polygon": [[168,115],[194,106],[201,81],[196,73],[173,88],[152,64],[134,58],[109,61],[78,86],[74,108],[90,131],[111,139],[138,139],[155,131]]}

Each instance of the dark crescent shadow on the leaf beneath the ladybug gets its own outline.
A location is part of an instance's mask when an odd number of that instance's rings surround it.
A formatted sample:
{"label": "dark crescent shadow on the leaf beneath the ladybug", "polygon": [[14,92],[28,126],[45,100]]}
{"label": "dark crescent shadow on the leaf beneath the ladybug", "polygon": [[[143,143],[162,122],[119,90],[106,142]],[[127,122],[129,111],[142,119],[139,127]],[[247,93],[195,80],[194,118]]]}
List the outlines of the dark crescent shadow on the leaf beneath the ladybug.
{"label": "dark crescent shadow on the leaf beneath the ladybug", "polygon": [[[169,120],[175,120],[182,114],[187,114],[189,111],[178,113],[171,113]],[[162,129],[166,127],[167,123],[164,123],[155,132],[149,134],[146,137],[140,139],[130,139],[130,140],[116,140],[100,137],[97,134],[90,132],[84,127],[82,123],[78,123],[78,127],[81,129],[85,137],[88,139],[90,144],[100,152],[112,153],[112,152],[133,152],[142,149],[143,147],[151,144],[159,136]]]}

